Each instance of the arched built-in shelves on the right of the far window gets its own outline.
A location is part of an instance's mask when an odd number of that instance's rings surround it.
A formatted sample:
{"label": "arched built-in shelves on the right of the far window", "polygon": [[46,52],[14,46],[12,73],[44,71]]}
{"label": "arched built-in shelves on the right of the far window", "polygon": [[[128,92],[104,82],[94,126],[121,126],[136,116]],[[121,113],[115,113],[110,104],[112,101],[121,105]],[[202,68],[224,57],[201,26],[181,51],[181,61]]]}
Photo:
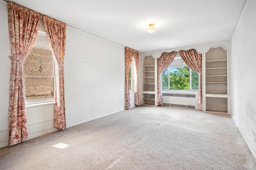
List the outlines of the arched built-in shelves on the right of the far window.
{"label": "arched built-in shelves on the right of the far window", "polygon": [[206,111],[228,111],[228,55],[222,47],[205,54]]}

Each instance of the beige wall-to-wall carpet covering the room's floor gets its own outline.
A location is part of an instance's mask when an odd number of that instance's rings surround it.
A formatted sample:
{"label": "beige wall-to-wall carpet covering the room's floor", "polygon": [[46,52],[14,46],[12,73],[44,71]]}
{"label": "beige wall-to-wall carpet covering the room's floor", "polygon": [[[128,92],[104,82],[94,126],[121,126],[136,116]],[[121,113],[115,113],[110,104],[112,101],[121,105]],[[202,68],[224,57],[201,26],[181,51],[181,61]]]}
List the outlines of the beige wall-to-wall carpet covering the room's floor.
{"label": "beige wall-to-wall carpet covering the room's floor", "polygon": [[140,106],[0,149],[0,169],[255,170],[256,161],[230,115]]}

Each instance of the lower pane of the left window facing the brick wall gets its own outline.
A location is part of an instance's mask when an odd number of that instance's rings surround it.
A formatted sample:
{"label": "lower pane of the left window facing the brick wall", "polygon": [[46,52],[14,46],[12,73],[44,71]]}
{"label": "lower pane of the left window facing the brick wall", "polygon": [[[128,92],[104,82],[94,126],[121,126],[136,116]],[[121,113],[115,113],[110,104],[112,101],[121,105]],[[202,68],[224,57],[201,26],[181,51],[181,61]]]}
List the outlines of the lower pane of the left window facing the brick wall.
{"label": "lower pane of the left window facing the brick wall", "polygon": [[54,97],[54,78],[26,77],[26,99],[42,99]]}

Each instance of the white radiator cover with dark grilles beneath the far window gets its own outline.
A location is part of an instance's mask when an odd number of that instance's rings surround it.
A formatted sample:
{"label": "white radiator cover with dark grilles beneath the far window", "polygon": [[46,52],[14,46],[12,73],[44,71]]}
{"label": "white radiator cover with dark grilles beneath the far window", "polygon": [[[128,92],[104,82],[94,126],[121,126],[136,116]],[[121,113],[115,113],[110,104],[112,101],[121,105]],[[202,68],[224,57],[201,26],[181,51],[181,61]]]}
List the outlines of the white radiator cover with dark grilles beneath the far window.
{"label": "white radiator cover with dark grilles beneath the far window", "polygon": [[198,109],[196,94],[163,93],[162,106]]}

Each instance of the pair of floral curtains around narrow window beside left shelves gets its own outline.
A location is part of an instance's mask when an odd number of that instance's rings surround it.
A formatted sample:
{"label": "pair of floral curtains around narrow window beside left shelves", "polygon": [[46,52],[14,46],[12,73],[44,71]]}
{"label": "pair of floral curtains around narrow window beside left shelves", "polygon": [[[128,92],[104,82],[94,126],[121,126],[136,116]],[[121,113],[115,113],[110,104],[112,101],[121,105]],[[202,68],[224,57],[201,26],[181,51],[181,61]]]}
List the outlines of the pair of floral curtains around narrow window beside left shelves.
{"label": "pair of floral curtains around narrow window beside left shelves", "polygon": [[130,108],[130,88],[129,88],[129,70],[132,63],[132,58],[136,66],[136,87],[135,87],[135,105],[139,105],[139,86],[138,86],[138,66],[139,52],[125,47],[125,109]]}

